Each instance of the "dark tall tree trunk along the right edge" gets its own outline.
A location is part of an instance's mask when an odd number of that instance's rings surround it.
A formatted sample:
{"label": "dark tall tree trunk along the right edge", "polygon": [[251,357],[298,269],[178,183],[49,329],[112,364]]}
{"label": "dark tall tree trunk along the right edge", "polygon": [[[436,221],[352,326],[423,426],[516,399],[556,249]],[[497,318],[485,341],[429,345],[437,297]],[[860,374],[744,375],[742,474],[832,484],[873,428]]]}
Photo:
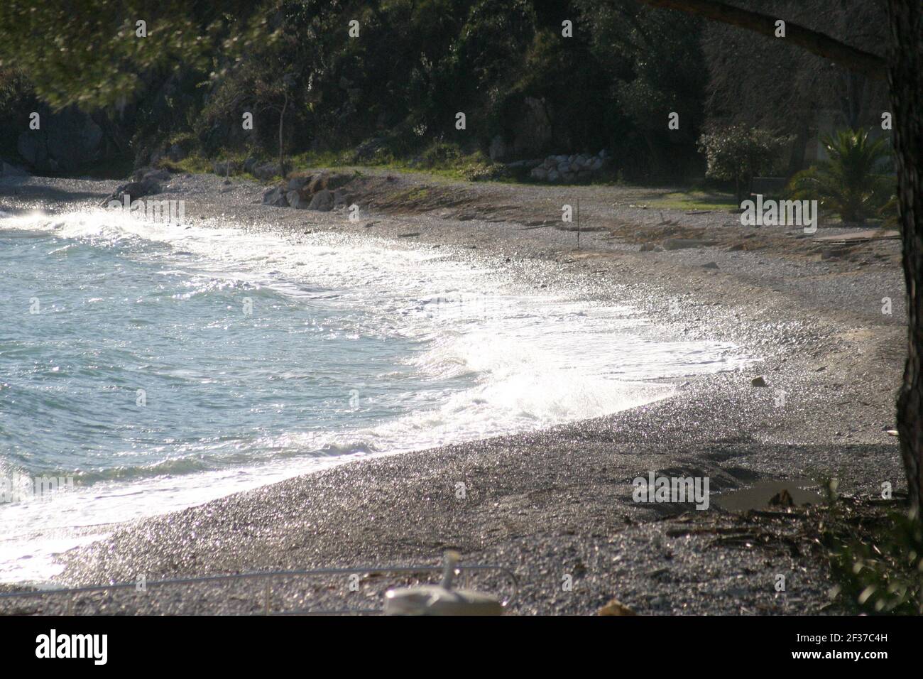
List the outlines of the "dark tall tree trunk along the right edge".
{"label": "dark tall tree trunk along the right edge", "polygon": [[911,512],[919,515],[923,486],[923,4],[889,0],[893,140],[897,196],[904,240],[907,286],[907,362],[897,399],[897,430],[907,475]]}

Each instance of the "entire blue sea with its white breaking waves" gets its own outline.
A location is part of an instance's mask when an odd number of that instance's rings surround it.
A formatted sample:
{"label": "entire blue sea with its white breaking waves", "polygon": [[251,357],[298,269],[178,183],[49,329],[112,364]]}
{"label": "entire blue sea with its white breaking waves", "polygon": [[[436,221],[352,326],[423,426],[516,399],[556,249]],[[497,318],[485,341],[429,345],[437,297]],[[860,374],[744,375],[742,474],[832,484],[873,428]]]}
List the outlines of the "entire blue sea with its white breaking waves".
{"label": "entire blue sea with its white breaking waves", "polygon": [[115,522],[605,415],[746,362],[448,250],[0,213],[0,482],[72,486],[0,503],[0,581],[53,576],[54,552]]}

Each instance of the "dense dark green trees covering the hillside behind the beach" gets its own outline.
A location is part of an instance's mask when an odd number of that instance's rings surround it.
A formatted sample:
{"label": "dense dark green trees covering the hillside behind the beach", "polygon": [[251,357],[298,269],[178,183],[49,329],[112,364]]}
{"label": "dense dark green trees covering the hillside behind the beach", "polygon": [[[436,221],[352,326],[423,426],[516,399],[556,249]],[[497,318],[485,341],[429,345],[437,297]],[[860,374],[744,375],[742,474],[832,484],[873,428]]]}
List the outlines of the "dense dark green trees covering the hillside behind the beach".
{"label": "dense dark green trees covering the hillside behind the beach", "polygon": [[[573,37],[561,35],[562,18]],[[135,35],[138,19],[146,38]],[[15,63],[56,108],[117,110],[107,134],[136,162],[177,134],[205,157],[275,157],[280,146],[339,155],[369,142],[374,158],[356,160],[378,164],[434,143],[469,157],[499,134],[519,157],[605,148],[622,164],[613,171],[676,176],[700,162],[699,34],[695,19],[632,0],[0,4],[0,64]],[[252,131],[241,127],[245,111]],[[665,127],[673,111],[678,134]],[[485,159],[464,164],[468,175],[497,175]]]}

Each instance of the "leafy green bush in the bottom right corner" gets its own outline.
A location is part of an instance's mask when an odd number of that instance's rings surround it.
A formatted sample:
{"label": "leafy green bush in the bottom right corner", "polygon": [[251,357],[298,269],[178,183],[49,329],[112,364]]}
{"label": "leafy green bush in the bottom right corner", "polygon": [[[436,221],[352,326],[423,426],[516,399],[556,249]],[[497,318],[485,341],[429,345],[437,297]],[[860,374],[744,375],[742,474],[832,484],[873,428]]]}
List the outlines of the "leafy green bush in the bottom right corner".
{"label": "leafy green bush in the bottom right corner", "polygon": [[877,535],[841,543],[831,553],[834,594],[859,611],[923,614],[923,523],[891,515]]}

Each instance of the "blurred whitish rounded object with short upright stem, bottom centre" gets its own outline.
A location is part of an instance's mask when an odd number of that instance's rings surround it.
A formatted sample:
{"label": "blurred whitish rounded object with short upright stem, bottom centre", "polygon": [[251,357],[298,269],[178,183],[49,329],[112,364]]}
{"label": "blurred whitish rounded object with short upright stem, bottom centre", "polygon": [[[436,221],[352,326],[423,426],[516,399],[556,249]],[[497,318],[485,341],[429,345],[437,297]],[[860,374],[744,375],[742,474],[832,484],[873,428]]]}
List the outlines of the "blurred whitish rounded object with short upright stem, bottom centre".
{"label": "blurred whitish rounded object with short upright stem, bottom centre", "polygon": [[389,589],[385,592],[386,615],[502,615],[497,597],[471,589],[452,589],[459,559],[458,552],[446,552],[444,570],[438,585]]}

